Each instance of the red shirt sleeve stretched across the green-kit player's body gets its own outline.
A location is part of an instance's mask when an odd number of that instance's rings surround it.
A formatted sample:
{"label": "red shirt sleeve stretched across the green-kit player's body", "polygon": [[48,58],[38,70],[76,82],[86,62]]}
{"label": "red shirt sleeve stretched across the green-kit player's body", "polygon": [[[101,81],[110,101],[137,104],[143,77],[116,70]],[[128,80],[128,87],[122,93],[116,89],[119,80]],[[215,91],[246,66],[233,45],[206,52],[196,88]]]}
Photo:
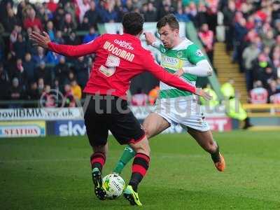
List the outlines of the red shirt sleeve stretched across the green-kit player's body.
{"label": "red shirt sleeve stretched across the green-kit player's body", "polygon": [[155,63],[155,60],[153,59],[151,53],[148,53],[148,55],[146,55],[145,57],[146,61],[144,62],[144,69],[153,73],[153,75],[159,80],[161,80],[163,83],[166,83],[167,85],[170,85],[172,87],[179,88],[180,90],[195,93],[195,86],[190,85],[178,76],[165,71],[165,69],[163,69],[160,65]]}

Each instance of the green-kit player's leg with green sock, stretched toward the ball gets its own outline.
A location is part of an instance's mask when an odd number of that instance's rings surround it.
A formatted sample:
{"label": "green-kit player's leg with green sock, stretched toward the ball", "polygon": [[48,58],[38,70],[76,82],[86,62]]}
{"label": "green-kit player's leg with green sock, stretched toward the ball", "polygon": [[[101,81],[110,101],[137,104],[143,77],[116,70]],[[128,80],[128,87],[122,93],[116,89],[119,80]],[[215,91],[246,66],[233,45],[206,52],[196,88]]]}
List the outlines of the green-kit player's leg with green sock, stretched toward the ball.
{"label": "green-kit player's leg with green sock, stretched toward the ball", "polygon": [[[158,115],[157,113],[149,114],[143,123],[146,137],[148,139],[166,130],[169,126],[170,123],[168,123],[165,118],[162,118],[162,116]],[[116,174],[120,174],[127,163],[130,162],[132,158],[134,158],[135,154],[136,151],[134,151],[131,146],[126,146],[123,154],[120,156],[120,160],[118,160],[116,164],[115,169],[113,169],[113,172]]]}

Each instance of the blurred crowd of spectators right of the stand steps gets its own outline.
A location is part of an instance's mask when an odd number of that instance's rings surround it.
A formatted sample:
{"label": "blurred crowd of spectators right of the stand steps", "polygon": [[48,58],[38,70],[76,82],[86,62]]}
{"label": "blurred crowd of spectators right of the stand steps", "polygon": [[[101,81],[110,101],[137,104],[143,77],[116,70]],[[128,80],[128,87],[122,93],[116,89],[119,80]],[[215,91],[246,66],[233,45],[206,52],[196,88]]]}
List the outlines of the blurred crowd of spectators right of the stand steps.
{"label": "blurred crowd of spectators right of the stand steps", "polygon": [[227,50],[246,76],[252,103],[279,103],[280,1],[221,3]]}

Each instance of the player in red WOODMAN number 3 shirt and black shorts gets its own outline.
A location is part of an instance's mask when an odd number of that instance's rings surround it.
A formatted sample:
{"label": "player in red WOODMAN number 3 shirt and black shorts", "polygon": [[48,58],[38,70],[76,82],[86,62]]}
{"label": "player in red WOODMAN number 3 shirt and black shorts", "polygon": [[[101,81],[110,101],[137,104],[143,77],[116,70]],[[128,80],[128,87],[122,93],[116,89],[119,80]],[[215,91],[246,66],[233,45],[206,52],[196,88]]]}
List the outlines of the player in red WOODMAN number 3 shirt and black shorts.
{"label": "player in red WOODMAN number 3 shirt and black shorts", "polygon": [[132,163],[130,183],[124,191],[132,205],[141,206],[137,186],[145,176],[150,162],[150,146],[144,130],[127,107],[126,92],[130,80],[144,71],[153,73],[162,82],[181,90],[193,92],[205,99],[211,98],[200,88],[185,83],[155,63],[151,52],[141,47],[139,36],[143,32],[144,18],[139,13],[123,17],[124,34],[103,34],[83,45],[52,43],[48,34],[34,32],[31,39],[43,48],[69,57],[95,53],[90,79],[83,92],[90,95],[85,111],[87,137],[93,149],[90,162],[94,193],[106,199],[102,187],[102,167],[106,160],[106,143],[109,130],[120,144],[129,144],[136,155]]}

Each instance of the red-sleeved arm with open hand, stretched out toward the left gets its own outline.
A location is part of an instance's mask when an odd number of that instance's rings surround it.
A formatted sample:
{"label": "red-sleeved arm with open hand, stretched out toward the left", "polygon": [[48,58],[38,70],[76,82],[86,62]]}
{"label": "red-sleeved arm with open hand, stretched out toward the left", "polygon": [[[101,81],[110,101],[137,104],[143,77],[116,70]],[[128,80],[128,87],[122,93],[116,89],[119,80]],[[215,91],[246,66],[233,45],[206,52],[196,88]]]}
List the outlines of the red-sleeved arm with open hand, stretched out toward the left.
{"label": "red-sleeved arm with open hand, stretched out toward the left", "polygon": [[52,43],[50,41],[50,36],[48,36],[45,31],[43,32],[43,35],[38,34],[35,31],[30,34],[31,41],[34,41],[37,45],[68,57],[81,57],[94,53],[97,48],[99,48],[101,37],[102,36],[99,36],[94,41],[83,45],[59,45]]}

